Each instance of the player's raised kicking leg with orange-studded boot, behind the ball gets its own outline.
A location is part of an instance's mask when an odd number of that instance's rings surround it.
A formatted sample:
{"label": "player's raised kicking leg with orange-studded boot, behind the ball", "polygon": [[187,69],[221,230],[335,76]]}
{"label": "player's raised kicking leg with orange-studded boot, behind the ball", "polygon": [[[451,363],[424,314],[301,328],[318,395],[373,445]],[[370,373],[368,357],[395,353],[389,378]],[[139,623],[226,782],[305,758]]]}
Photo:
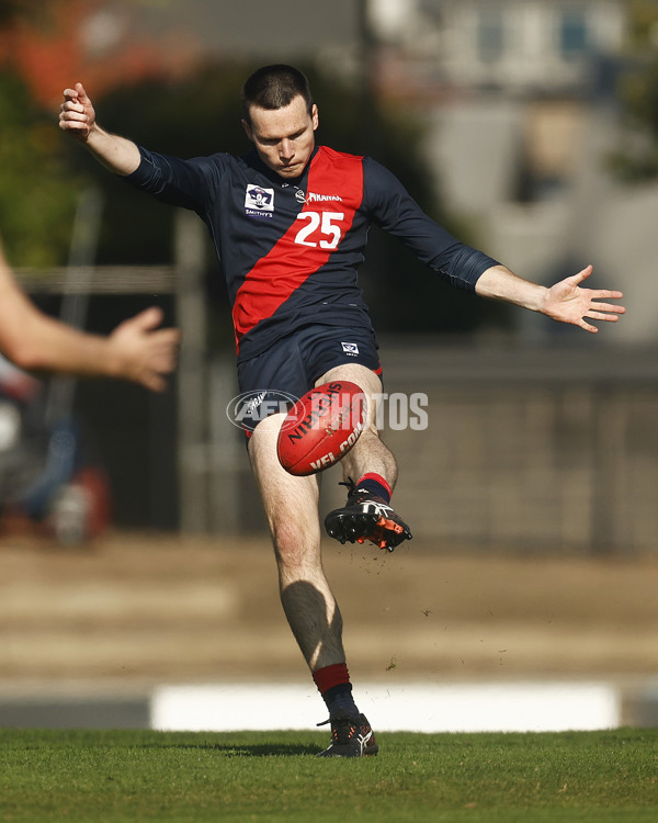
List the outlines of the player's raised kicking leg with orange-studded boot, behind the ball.
{"label": "player's raised kicking leg with orange-studded boot, behind the ball", "polygon": [[374,372],[358,363],[331,369],[317,381],[317,385],[331,380],[349,380],[363,388],[370,398],[370,419],[355,446],[341,461],[344,485],[349,489],[348,500],[342,508],[327,515],[327,533],[341,543],[370,540],[392,552],[404,540],[410,540],[411,532],[390,506],[397,464],[377,433],[377,404],[373,399],[381,394],[382,383]]}

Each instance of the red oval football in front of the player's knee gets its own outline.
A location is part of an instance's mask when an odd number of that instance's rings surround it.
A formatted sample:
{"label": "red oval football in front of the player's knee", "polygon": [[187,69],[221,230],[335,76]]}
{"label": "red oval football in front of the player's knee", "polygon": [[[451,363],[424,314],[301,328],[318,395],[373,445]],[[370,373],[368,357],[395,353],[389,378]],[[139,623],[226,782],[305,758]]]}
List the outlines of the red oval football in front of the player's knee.
{"label": "red oval football in front of the player's knee", "polygon": [[361,388],[347,380],[311,388],[283,421],[276,443],[279,462],[298,476],[333,465],[359,440],[366,407]]}

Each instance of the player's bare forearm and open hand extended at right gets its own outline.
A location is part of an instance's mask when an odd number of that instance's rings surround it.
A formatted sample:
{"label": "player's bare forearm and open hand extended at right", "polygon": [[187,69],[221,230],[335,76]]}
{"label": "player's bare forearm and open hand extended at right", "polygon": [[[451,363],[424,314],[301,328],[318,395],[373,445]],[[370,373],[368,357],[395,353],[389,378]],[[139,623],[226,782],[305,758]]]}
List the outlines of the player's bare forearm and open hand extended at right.
{"label": "player's bare forearm and open hand extended at right", "polygon": [[503,300],[540,312],[559,323],[570,323],[586,331],[597,332],[599,329],[588,320],[616,323],[626,309],[615,303],[601,302],[620,300],[624,296],[622,292],[580,285],[592,271],[592,267],[587,266],[578,274],[546,288],[519,278],[504,266],[494,266],[479,278],[475,291],[483,297]]}

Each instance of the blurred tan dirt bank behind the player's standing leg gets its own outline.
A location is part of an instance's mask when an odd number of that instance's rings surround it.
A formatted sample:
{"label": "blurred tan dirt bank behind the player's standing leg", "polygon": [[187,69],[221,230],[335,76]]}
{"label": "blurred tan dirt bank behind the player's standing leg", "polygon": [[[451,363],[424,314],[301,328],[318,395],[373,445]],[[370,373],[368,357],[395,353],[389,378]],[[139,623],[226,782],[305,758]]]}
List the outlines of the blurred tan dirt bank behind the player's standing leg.
{"label": "blurred tan dirt bank behind the player's standing leg", "polygon": [[[354,679],[617,677],[658,670],[658,561],[327,543]],[[0,539],[0,684],[307,677],[269,540]]]}

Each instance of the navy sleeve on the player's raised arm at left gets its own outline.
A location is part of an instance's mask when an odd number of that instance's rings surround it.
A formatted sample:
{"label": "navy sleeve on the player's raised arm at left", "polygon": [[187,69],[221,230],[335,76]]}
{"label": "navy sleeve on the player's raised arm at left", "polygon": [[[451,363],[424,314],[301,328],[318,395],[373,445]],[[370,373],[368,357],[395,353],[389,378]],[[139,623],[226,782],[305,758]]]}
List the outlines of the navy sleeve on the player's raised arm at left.
{"label": "navy sleeve on the player's raised arm at left", "polygon": [[200,213],[206,210],[211,192],[222,173],[220,155],[182,160],[141,146],[138,148],[141,162],[124,178],[128,183],[169,205]]}

